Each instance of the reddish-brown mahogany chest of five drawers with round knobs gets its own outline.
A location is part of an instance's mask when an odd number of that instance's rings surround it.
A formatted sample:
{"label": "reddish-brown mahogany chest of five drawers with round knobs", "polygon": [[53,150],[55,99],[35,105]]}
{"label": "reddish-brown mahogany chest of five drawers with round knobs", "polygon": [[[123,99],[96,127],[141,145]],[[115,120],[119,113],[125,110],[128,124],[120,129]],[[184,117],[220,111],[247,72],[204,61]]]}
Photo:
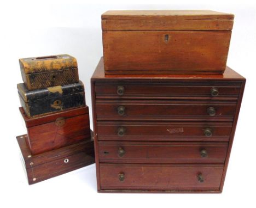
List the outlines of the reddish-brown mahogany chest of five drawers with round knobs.
{"label": "reddish-brown mahogany chest of five drawers with round knobs", "polygon": [[98,192],[222,192],[246,79],[91,78]]}

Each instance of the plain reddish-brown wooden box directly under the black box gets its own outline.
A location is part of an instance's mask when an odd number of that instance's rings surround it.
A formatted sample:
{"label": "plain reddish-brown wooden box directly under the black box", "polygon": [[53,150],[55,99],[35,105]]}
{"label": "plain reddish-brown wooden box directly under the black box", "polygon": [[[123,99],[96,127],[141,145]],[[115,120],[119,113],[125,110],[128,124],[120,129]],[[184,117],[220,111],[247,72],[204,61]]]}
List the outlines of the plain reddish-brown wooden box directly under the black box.
{"label": "plain reddish-brown wooden box directly under the black box", "polygon": [[28,118],[22,107],[20,112],[27,127],[25,139],[32,155],[91,138],[88,106],[35,118]]}

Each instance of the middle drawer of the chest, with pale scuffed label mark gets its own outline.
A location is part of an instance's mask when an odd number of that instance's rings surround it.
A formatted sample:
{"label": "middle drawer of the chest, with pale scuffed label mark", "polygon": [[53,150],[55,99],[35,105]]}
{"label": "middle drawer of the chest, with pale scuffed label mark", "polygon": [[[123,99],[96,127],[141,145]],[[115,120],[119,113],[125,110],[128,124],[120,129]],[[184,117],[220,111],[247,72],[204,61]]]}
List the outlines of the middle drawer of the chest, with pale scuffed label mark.
{"label": "middle drawer of the chest, with pale scuffed label mark", "polygon": [[98,121],[98,140],[228,141],[230,122]]}

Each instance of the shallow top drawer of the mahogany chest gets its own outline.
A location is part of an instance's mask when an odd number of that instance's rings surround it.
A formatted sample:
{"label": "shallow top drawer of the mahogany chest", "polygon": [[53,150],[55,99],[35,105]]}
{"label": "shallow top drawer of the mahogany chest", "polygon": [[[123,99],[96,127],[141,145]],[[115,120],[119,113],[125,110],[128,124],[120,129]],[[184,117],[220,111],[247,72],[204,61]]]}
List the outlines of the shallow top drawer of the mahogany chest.
{"label": "shallow top drawer of the mahogany chest", "polygon": [[237,100],[241,82],[96,81],[96,99]]}

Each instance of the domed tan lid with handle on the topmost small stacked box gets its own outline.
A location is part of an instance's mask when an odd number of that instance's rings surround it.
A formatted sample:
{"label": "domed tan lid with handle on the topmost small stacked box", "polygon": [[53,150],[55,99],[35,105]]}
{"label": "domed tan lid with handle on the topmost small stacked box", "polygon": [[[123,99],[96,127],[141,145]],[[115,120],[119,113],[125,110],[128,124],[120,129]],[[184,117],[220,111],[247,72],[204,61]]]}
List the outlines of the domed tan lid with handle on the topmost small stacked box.
{"label": "domed tan lid with handle on the topmost small stacked box", "polygon": [[68,55],[54,55],[19,59],[25,74],[77,68],[77,59]]}

